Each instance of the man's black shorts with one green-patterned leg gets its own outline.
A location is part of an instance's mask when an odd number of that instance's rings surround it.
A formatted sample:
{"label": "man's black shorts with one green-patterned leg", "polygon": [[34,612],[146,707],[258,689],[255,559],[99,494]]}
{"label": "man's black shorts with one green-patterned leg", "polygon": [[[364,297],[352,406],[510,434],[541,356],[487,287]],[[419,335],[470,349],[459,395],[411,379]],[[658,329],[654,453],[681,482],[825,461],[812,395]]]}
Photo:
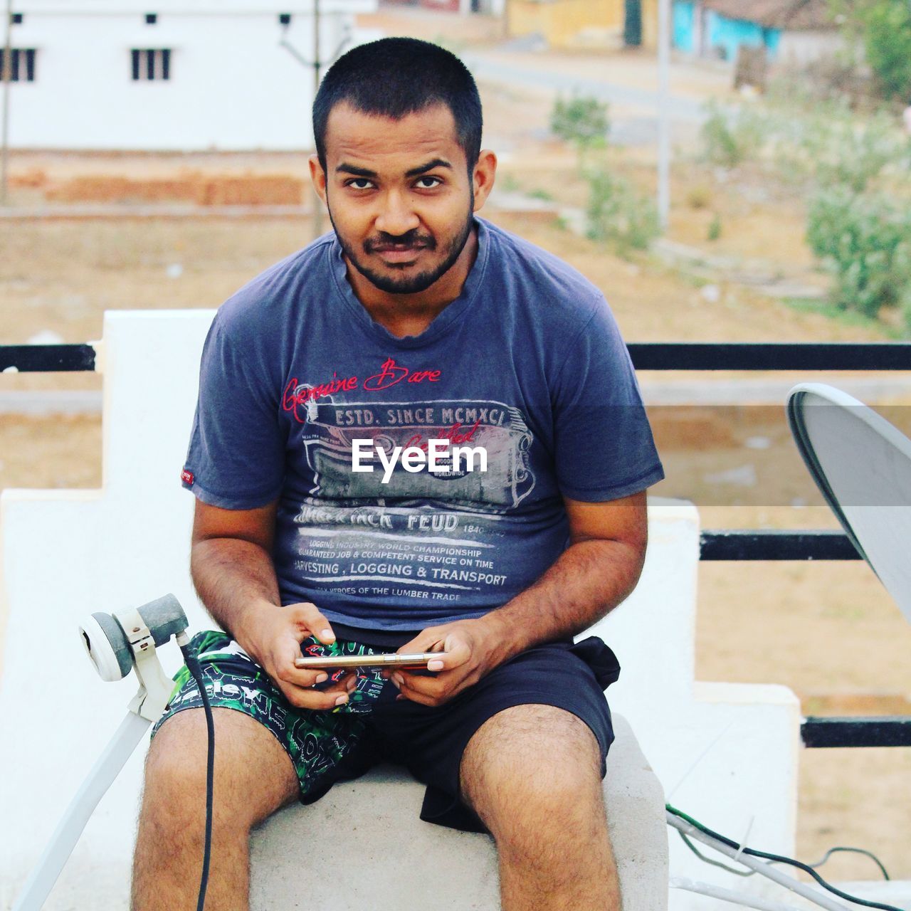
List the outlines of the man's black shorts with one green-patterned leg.
{"label": "man's black shorts with one green-patterned leg", "polygon": [[[614,653],[597,637],[577,644],[548,642],[496,667],[444,705],[396,701],[398,691],[378,673],[363,670],[349,702],[332,711],[295,709],[265,672],[230,638],[198,633],[206,691],[213,707],[243,711],[268,728],[292,759],[301,801],[312,804],[334,783],[350,781],[376,763],[404,765],[426,785],[421,819],[467,832],[486,832],[459,799],[459,765],[472,735],[497,712],[515,705],[553,705],[588,724],[599,743],[601,777],[614,734],[604,690],[619,676]],[[383,650],[340,640],[333,653]],[[185,709],[199,708],[200,694],[186,668],[168,708],[152,731]],[[216,745],[216,749],[218,746]]]}

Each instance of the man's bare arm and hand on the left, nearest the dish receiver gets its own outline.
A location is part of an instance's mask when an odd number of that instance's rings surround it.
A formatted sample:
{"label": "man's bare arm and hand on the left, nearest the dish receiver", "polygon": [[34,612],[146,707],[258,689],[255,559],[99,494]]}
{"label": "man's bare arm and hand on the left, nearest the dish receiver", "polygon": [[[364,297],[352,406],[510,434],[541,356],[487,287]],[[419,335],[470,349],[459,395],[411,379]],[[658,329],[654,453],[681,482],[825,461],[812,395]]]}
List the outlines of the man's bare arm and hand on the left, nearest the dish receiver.
{"label": "man's bare arm and hand on the left, nearest the dish receiver", "polygon": [[328,709],[347,701],[347,674],[322,691],[326,675],[294,666],[301,642],[335,636],[315,605],[281,606],[271,549],[277,504],[258,509],[220,509],[197,500],[190,574],[202,603],[220,627],[271,677],[292,705]]}

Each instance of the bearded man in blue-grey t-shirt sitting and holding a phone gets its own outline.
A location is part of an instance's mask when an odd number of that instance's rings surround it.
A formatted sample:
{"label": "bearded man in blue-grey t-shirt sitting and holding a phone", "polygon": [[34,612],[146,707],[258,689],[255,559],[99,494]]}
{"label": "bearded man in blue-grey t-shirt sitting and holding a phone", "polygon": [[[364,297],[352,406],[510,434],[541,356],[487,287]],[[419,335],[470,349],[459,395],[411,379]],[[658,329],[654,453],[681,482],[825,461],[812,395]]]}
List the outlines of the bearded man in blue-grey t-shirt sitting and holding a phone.
{"label": "bearded man in blue-grey t-shirt sitting and holding a phone", "polygon": [[[220,308],[182,474],[194,583],[226,630],[196,637],[216,706],[207,904],[247,907],[252,825],[386,758],[427,784],[423,818],[493,834],[507,911],[617,909],[619,669],[572,637],[636,584],[661,477],[626,348],[588,281],[475,217],[496,157],[455,56],[354,48],[313,127],[334,233]],[[475,470],[394,460],[432,439],[476,449]],[[354,440],[375,449],[358,471]],[[326,679],[302,649],[442,654]],[[179,681],[148,753],[136,911],[196,902],[206,729]]]}

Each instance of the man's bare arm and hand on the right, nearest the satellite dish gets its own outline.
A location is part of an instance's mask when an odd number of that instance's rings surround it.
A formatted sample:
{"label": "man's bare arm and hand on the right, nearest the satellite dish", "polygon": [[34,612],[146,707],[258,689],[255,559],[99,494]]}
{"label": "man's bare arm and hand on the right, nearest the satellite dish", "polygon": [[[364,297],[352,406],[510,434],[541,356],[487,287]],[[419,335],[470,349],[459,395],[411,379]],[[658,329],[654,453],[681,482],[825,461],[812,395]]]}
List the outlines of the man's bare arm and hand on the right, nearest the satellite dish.
{"label": "man's bare arm and hand on the right, nearest the satellite dish", "polygon": [[639,581],[648,540],[645,493],[607,503],[565,500],[572,543],[537,582],[475,620],[424,630],[401,651],[447,652],[435,678],[397,672],[408,699],[438,705],[540,642],[587,629]]}

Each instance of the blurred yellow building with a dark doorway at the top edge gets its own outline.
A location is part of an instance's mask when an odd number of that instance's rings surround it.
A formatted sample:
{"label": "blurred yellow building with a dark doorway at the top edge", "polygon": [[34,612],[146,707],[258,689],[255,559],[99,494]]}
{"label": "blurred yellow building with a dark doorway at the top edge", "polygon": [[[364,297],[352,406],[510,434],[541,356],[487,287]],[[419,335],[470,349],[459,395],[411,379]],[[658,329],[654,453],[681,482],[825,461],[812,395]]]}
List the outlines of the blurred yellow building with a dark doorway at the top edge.
{"label": "blurred yellow building with a dark doorway at the top edge", "polygon": [[511,36],[537,35],[550,47],[658,45],[658,0],[507,0],[506,15]]}

